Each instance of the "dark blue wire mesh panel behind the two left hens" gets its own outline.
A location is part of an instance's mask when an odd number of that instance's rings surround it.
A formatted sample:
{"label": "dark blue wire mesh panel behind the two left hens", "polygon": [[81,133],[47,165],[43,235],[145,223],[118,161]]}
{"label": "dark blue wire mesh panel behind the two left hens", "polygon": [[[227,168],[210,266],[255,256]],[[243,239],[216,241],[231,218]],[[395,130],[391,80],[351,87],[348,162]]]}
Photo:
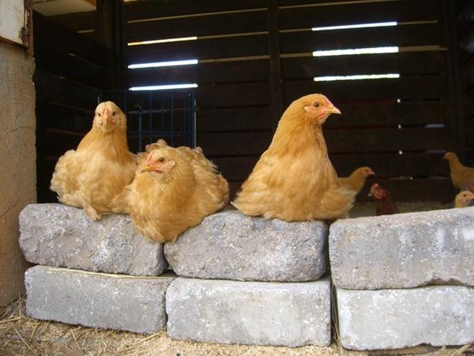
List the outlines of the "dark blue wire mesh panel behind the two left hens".
{"label": "dark blue wire mesh panel behind the two left hens", "polygon": [[103,91],[98,101],[114,101],[127,117],[130,150],[140,152],[158,139],[171,146],[196,147],[196,101],[193,93]]}

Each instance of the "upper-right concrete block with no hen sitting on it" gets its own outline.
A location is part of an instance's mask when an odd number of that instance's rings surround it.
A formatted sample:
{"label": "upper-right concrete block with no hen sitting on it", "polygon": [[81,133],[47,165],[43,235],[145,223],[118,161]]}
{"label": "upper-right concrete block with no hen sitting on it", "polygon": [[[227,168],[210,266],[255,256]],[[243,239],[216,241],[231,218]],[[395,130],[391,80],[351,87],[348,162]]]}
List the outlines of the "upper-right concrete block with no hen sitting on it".
{"label": "upper-right concrete block with no hen sitting on it", "polygon": [[333,223],[333,283],[347,289],[474,286],[474,207]]}

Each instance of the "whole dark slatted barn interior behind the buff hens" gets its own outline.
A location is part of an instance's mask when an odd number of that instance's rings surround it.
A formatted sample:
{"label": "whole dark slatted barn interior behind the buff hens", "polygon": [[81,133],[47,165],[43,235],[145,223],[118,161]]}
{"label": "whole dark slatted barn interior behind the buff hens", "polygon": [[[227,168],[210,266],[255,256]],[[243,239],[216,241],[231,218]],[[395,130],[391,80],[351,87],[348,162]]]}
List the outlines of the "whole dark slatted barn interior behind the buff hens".
{"label": "whole dark slatted barn interior behind the buff hens", "polygon": [[[176,145],[195,138],[233,198],[283,110],[308,93],[324,93],[341,109],[324,128],[338,174],[370,166],[369,182],[398,200],[453,201],[444,152],[474,166],[473,19],[469,0],[98,0],[93,12],[35,12],[38,202],[56,201],[52,170],[90,129],[98,98],[125,109],[133,151],[158,137]],[[378,25],[333,28],[355,24]],[[324,52],[381,47],[389,48]],[[188,60],[196,64],[128,68]],[[348,80],[360,75],[373,78]],[[170,84],[194,87],[128,92]],[[143,98],[159,101],[158,109]],[[168,120],[189,107],[196,130],[191,124],[186,141],[180,133],[188,124]],[[139,111],[163,126],[139,123]]]}

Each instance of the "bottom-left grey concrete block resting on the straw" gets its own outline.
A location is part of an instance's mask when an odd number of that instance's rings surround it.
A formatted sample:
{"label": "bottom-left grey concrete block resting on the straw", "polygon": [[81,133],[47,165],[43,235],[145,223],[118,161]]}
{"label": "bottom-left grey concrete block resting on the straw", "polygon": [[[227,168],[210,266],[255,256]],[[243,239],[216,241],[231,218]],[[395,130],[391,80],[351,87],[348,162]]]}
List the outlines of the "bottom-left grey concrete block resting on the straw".
{"label": "bottom-left grey concrete block resting on the straw", "polygon": [[27,314],[90,328],[157,333],[173,277],[133,277],[35,266],[25,273]]}

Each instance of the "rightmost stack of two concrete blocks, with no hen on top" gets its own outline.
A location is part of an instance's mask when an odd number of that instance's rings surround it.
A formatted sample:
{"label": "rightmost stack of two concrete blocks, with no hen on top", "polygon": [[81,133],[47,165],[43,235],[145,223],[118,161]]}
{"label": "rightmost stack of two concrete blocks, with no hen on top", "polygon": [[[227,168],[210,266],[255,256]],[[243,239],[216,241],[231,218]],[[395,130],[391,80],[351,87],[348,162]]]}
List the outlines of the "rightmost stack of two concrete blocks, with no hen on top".
{"label": "rightmost stack of two concrete blocks, with no hen on top", "polygon": [[474,342],[474,207],[340,220],[329,255],[345,348]]}

